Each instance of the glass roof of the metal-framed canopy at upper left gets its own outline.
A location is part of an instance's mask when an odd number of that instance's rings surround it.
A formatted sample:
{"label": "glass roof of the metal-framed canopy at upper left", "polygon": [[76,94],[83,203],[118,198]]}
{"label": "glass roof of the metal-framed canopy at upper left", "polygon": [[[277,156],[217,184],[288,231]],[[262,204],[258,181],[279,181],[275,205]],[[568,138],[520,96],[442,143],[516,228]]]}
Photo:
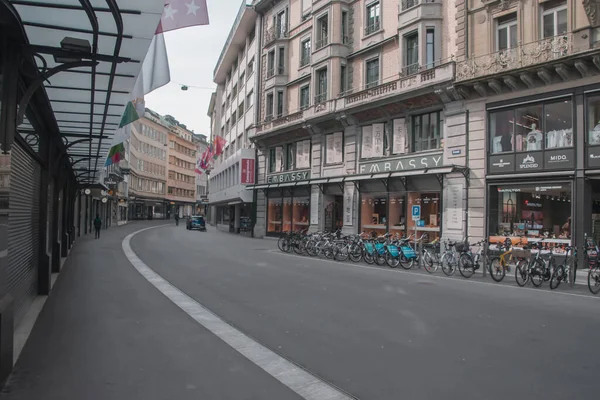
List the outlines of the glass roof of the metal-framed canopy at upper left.
{"label": "glass roof of the metal-framed canopy at upper left", "polygon": [[[69,160],[77,164],[78,182],[94,183],[131,100],[164,0],[2,1],[19,14],[29,41],[25,51],[36,61]],[[86,41],[90,51],[61,47],[65,38]],[[86,66],[77,66],[77,60]],[[27,118],[18,123],[23,136],[35,132]]]}

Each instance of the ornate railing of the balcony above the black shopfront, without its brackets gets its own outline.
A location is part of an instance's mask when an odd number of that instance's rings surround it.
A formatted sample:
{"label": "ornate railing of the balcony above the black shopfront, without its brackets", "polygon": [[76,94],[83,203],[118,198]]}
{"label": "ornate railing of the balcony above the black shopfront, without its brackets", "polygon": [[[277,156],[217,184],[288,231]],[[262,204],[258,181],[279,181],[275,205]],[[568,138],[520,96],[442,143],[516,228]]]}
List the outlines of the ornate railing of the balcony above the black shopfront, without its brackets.
{"label": "ornate railing of the balcony above the black shopfront, without its brackets", "polygon": [[456,80],[468,81],[520,68],[540,65],[574,54],[573,34],[518,45],[514,49],[471,57],[456,66]]}

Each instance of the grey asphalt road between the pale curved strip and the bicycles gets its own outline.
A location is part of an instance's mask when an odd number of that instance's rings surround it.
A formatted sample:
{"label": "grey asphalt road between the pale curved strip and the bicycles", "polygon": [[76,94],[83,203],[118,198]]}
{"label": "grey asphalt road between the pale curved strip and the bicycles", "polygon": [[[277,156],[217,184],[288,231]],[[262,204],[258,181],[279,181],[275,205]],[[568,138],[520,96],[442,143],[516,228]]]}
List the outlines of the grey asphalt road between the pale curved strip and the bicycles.
{"label": "grey asphalt road between the pale curved strip and the bicycles", "polygon": [[598,397],[600,298],[583,288],[285,255],[272,240],[183,224],[131,246],[203,306],[359,399]]}

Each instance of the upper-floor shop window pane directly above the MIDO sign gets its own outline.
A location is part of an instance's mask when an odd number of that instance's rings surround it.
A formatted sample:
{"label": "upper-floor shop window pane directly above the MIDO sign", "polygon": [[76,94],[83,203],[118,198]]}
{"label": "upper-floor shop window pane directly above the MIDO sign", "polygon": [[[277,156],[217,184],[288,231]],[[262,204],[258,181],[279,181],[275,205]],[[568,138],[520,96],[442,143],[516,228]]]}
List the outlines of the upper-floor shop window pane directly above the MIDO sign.
{"label": "upper-floor shop window pane directly above the MIDO sign", "polygon": [[546,148],[573,146],[573,104],[563,100],[544,106]]}

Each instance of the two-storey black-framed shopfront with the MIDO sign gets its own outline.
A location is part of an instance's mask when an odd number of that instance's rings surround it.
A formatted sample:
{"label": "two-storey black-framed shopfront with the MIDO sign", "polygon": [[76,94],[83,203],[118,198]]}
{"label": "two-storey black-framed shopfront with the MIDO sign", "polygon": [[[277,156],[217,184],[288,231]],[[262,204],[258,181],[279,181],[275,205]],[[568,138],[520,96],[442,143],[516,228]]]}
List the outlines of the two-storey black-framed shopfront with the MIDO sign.
{"label": "two-storey black-framed shopfront with the MIDO sign", "polygon": [[549,244],[600,241],[600,88],[491,105],[487,232]]}

